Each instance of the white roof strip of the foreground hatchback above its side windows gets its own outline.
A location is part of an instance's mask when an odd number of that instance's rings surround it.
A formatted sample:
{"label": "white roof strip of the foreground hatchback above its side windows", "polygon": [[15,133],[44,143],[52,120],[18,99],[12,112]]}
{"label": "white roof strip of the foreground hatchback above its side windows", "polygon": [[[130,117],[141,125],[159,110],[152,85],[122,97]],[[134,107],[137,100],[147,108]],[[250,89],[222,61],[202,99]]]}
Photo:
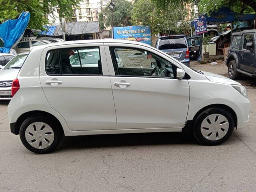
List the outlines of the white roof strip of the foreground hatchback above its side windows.
{"label": "white roof strip of the foreground hatchback above its side windows", "polygon": [[93,39],[93,40],[63,41],[63,42],[56,42],[56,43],[52,43],[52,44],[34,46],[31,51],[41,50],[41,49],[44,49],[44,48],[47,48],[47,47],[54,48],[54,46],[60,46],[60,45],[89,44],[89,43],[124,43],[124,44],[142,45],[142,46],[153,48],[152,46],[150,46],[146,43],[141,43],[141,42],[136,42],[136,41],[120,40],[120,39]]}

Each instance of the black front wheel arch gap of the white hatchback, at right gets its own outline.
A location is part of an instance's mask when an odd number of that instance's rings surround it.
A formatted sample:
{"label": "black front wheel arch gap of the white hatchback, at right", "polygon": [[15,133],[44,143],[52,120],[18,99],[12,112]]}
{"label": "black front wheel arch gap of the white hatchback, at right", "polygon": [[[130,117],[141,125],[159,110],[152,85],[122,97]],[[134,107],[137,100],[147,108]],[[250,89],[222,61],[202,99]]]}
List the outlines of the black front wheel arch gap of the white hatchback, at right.
{"label": "black front wheel arch gap of the white hatchback, at right", "polygon": [[234,110],[232,108],[230,108],[230,106],[227,106],[225,104],[211,104],[208,106],[205,106],[203,108],[201,108],[193,117],[193,120],[187,120],[185,126],[182,128],[182,133],[184,134],[192,134],[193,132],[193,126],[194,126],[194,121],[196,120],[196,118],[198,117],[198,115],[200,113],[202,113],[204,110],[207,110],[209,108],[221,108],[224,110],[227,110],[228,112],[230,112],[232,114],[232,116],[234,117],[234,122],[235,122],[235,127],[237,127],[237,116],[236,113],[234,112]]}

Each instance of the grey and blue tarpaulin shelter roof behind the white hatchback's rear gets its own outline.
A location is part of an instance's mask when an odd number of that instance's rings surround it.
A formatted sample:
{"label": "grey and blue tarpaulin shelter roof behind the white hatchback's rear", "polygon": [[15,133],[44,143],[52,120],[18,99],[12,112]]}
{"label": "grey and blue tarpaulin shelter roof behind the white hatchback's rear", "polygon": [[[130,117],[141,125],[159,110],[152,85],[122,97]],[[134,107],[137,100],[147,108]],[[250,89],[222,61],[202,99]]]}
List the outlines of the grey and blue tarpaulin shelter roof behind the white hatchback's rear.
{"label": "grey and blue tarpaulin shelter roof behind the white hatchback's rear", "polygon": [[[79,35],[97,33],[100,30],[98,21],[88,22],[68,22],[66,23],[66,35]],[[46,27],[47,31],[42,31],[39,34],[42,36],[62,36],[63,31],[61,25]]]}

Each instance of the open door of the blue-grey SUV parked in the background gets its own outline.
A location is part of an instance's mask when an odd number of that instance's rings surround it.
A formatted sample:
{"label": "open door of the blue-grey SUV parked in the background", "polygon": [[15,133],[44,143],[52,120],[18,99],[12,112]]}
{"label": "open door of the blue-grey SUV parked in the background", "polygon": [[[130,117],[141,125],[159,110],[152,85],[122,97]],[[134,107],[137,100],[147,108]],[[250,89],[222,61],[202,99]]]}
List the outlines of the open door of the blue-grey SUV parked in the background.
{"label": "open door of the blue-grey SUV parked in the background", "polygon": [[202,36],[190,37],[187,40],[190,61],[197,61],[202,53]]}

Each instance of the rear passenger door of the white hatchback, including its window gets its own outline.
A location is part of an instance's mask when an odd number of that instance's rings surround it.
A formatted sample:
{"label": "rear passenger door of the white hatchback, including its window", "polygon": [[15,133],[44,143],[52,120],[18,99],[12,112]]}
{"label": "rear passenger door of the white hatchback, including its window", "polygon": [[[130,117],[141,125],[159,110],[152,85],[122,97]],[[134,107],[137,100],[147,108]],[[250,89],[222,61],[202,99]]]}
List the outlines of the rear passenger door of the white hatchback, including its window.
{"label": "rear passenger door of the white hatchback, including its window", "polygon": [[64,46],[42,58],[47,62],[46,69],[44,62],[40,64],[41,86],[50,106],[64,117],[70,130],[117,128],[103,46]]}

